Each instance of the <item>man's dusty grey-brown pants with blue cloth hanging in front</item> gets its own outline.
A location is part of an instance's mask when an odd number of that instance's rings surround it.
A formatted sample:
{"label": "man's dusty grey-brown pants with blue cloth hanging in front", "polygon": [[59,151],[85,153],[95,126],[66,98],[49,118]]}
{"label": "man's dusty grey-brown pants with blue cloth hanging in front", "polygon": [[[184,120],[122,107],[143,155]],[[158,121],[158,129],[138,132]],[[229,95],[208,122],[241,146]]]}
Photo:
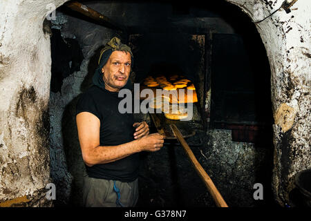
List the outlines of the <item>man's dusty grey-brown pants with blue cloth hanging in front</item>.
{"label": "man's dusty grey-brown pants with blue cloth hanging in front", "polygon": [[133,207],[138,201],[138,179],[133,182],[84,176],[83,203],[86,207]]}

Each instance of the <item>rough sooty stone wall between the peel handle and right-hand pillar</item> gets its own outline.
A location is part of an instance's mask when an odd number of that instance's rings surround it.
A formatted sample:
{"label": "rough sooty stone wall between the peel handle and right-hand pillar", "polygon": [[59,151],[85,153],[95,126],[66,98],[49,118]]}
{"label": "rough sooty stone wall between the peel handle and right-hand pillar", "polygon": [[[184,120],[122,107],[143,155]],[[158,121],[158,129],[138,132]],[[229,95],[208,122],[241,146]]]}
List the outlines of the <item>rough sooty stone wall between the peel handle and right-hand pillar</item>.
{"label": "rough sooty stone wall between the peel handle and right-hand pillar", "polygon": [[[229,206],[275,206],[271,191],[272,155],[272,143],[233,142],[232,131],[211,129],[198,160]],[[254,199],[257,183],[263,185],[263,200]]]}

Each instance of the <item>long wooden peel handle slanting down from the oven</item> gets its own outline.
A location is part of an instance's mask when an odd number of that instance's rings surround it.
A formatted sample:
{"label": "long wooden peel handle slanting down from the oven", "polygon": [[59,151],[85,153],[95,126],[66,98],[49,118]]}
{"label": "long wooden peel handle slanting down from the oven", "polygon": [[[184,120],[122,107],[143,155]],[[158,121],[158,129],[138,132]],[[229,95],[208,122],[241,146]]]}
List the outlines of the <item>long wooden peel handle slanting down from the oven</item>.
{"label": "long wooden peel handle slanting down from the oven", "polygon": [[170,126],[171,126],[173,133],[176,135],[178,142],[180,142],[180,145],[185,149],[191,161],[191,164],[194,166],[194,169],[196,169],[196,172],[198,173],[198,175],[202,178],[203,182],[205,182],[205,185],[207,186],[207,190],[213,197],[216,205],[218,207],[228,207],[227,203],[225,202],[223,197],[220,195],[213,181],[211,181],[211,178],[209,177],[209,175],[207,175],[207,173],[202,168],[198,160],[196,160],[194,153],[192,153],[191,148],[189,147],[185,139],[182,137],[182,134],[178,130],[177,126],[175,124],[171,124]]}

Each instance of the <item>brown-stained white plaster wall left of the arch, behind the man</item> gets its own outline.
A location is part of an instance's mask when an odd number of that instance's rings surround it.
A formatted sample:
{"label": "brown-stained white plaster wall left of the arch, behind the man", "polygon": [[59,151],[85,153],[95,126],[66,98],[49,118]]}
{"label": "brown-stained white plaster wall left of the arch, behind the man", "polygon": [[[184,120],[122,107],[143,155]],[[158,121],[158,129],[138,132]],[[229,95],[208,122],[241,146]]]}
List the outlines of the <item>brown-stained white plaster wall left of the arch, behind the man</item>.
{"label": "brown-stained white plaster wall left of the arch, behind the man", "polygon": [[50,38],[43,21],[49,3],[0,1],[0,202],[48,184]]}

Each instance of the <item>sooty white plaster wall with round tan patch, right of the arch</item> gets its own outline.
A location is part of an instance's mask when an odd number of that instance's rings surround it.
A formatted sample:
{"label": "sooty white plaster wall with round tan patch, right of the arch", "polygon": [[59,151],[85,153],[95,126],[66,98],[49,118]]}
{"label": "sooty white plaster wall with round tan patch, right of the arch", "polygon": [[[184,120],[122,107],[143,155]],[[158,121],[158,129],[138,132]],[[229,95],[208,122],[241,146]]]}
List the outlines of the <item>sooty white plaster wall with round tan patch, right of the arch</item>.
{"label": "sooty white plaster wall with round tan patch, right of the arch", "polygon": [[[261,21],[283,1],[227,0],[239,6],[252,21]],[[274,178],[272,188],[279,204],[290,204],[294,175],[311,166],[310,151],[310,15],[308,0],[298,0],[286,13],[255,23],[271,67],[274,113]]]}

